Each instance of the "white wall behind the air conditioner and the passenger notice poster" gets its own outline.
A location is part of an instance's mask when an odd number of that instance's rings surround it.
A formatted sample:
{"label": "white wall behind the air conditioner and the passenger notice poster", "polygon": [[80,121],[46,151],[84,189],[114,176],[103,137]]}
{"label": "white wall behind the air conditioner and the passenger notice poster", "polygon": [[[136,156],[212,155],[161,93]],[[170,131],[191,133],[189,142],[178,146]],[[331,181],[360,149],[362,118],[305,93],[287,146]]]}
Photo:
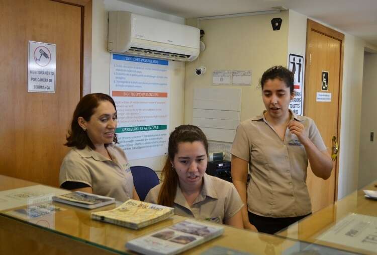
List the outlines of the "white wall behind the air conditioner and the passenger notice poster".
{"label": "white wall behind the air conditioner and the passenger notice poster", "polygon": [[[91,54],[91,93],[106,93],[110,90],[110,53],[107,51],[107,28],[109,11],[129,11],[158,19],[184,24],[184,18],[134,6],[118,0],[93,0],[92,8],[92,54]],[[169,129],[183,123],[184,63],[169,61]],[[131,160],[131,165],[149,166],[160,171],[165,157],[151,157]]]}

